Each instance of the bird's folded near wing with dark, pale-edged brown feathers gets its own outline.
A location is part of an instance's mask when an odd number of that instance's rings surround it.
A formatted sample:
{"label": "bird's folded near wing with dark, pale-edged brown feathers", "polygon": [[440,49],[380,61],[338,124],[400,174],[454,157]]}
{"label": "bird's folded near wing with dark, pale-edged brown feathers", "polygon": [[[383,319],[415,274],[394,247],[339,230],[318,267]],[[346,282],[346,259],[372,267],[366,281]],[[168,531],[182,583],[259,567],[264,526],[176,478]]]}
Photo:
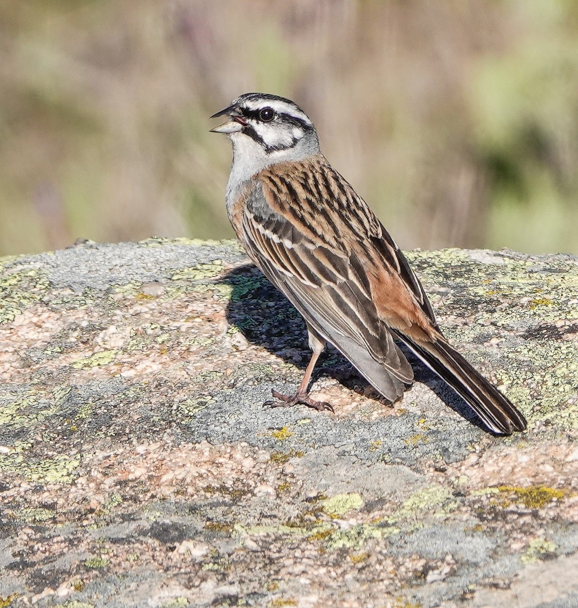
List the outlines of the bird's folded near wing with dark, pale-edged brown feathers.
{"label": "bird's folded near wing with dark, pale-edged brown feathers", "polygon": [[386,398],[403,394],[413,370],[380,322],[363,269],[344,250],[305,236],[274,212],[258,185],[242,218],[250,257],[322,337]]}

